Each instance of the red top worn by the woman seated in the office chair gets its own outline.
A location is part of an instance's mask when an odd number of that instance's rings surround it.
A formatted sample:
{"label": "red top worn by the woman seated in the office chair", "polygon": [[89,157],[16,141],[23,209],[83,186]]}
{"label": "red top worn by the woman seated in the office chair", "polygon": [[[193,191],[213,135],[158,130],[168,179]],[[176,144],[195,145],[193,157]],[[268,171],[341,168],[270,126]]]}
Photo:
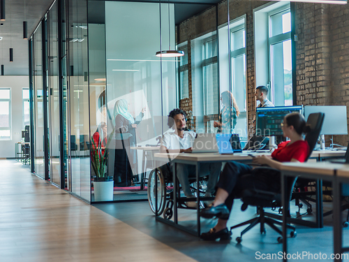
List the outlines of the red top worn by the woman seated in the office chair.
{"label": "red top worn by the woman seated in the office chair", "polygon": [[291,145],[288,143],[290,141],[280,143],[278,148],[272,152],[272,158],[280,162],[290,162],[291,159],[296,159],[299,162],[306,161],[310,150],[308,143],[304,140],[298,140]]}

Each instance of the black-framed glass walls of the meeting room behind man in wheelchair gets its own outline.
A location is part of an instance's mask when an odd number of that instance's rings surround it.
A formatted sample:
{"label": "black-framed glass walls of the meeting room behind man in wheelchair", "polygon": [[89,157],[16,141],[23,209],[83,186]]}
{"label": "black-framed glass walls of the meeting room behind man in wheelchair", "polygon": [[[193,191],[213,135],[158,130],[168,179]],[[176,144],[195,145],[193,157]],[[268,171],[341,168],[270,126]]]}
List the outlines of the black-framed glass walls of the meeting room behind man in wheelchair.
{"label": "black-framed glass walls of the meeting room behind man in wheelchair", "polygon": [[[202,6],[201,10],[210,7]],[[48,59],[50,180],[84,201],[147,199],[154,153],[163,134],[170,131],[167,116],[174,108],[186,111],[187,127],[197,133],[233,133],[236,123],[229,116],[235,100],[230,95],[227,102],[222,94],[228,91],[238,99],[246,131],[244,27],[235,24],[235,29],[224,29],[226,42],[221,45],[218,20],[225,20],[226,26],[228,14],[218,14],[213,6],[204,12],[214,17],[205,27],[181,36],[178,17],[180,8],[186,7],[84,0],[52,5],[44,29],[46,55],[41,24],[32,36],[38,175],[45,178],[43,59]],[[193,15],[188,23],[199,25],[202,18]],[[230,38],[235,41],[229,42]],[[155,55],[176,47],[185,52],[184,57]],[[222,70],[226,78],[221,78]],[[100,182],[111,184],[111,198],[101,198]]]}

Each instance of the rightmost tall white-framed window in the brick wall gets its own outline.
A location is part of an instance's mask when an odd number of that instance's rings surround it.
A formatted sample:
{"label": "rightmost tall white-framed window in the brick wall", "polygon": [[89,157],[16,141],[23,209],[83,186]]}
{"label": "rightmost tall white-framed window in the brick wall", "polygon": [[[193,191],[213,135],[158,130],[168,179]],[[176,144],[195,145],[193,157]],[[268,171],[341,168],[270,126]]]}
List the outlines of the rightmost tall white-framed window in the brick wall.
{"label": "rightmost tall white-framed window in the brick wall", "polygon": [[269,68],[272,99],[276,105],[292,105],[292,56],[290,8],[269,13]]}

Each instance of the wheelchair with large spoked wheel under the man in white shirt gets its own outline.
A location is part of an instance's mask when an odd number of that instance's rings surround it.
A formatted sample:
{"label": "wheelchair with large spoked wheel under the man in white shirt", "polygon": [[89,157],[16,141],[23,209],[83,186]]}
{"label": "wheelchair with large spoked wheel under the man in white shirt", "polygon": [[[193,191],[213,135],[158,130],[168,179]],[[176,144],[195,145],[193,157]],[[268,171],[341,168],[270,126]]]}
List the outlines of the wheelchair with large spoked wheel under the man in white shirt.
{"label": "wheelchair with large spoked wheel under the man in white shirt", "polygon": [[[207,178],[199,178],[199,194],[204,196],[207,189]],[[154,214],[161,216],[163,214],[164,219],[171,219],[173,215],[173,173],[169,163],[163,166],[151,170],[148,178],[148,202],[150,209]],[[191,183],[191,190],[196,198],[197,183],[195,178],[189,177],[189,183]],[[180,194],[181,187],[177,187],[177,196]],[[157,205],[156,205],[157,196]],[[177,208],[188,208],[185,204],[186,201],[195,201],[194,198],[177,198]],[[200,208],[204,208],[204,204],[200,201]],[[193,209],[193,208],[188,208]]]}

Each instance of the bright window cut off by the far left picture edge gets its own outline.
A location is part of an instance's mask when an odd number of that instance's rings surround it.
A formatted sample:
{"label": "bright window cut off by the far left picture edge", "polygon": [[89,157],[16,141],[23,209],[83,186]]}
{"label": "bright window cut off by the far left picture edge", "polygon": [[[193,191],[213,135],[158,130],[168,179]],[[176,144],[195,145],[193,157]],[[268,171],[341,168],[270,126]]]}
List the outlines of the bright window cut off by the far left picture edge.
{"label": "bright window cut off by the far left picture edge", "polygon": [[11,139],[11,89],[0,88],[0,140]]}

